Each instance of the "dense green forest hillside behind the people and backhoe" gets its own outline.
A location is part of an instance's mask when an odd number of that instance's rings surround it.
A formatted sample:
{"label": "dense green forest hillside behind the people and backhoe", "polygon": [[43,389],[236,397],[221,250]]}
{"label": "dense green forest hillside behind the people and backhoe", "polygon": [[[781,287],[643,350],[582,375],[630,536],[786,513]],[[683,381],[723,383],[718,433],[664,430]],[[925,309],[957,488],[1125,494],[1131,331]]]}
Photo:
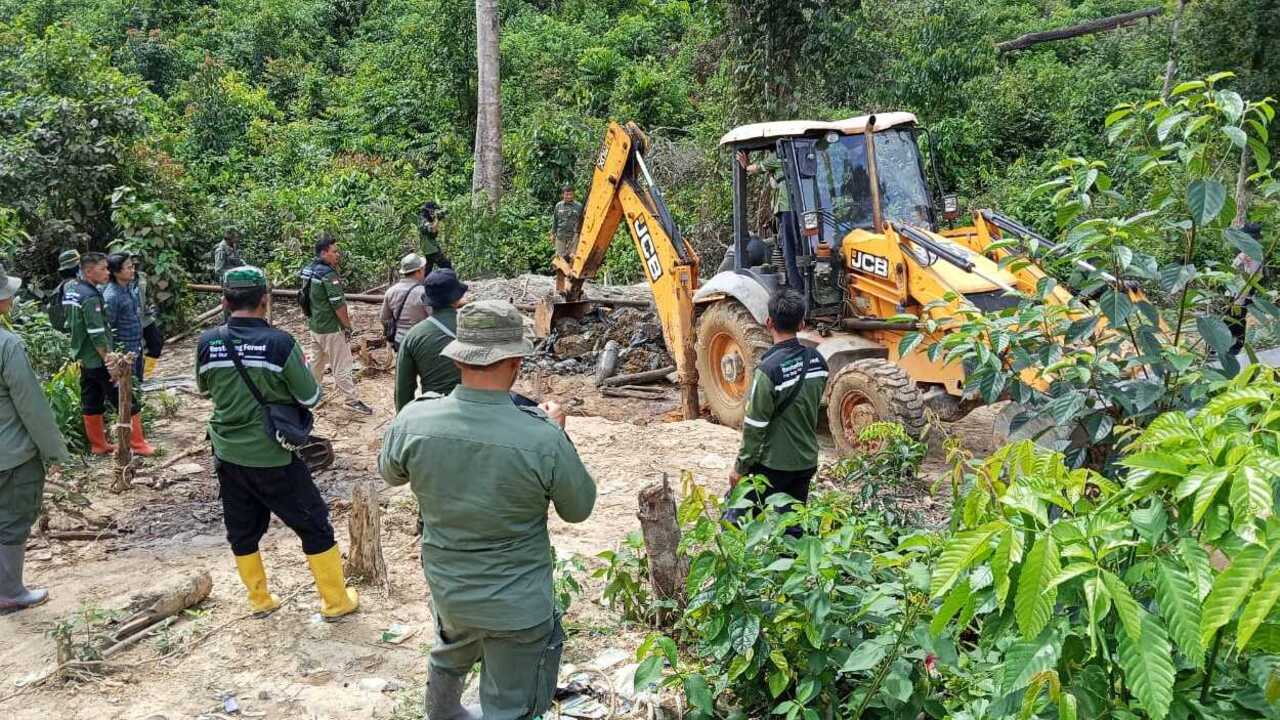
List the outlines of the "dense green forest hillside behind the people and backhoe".
{"label": "dense green forest hillside behind the people and backhoe", "polygon": [[[1193,0],[1176,46],[1170,3],[1119,31],[995,47],[1148,4],[503,0],[506,195],[489,213],[470,197],[472,0],[0,0],[0,258],[47,286],[59,249],[123,238],[177,290],[238,228],[289,283],[329,229],[352,284],[372,286],[436,200],[462,272],[538,270],[558,188],[585,192],[609,118],[652,133],[677,222],[710,249],[728,234],[726,129],[890,109],[936,135],[965,206],[1052,231],[1036,187],[1064,156],[1116,159],[1103,118],[1158,96],[1171,55],[1179,79],[1226,69],[1245,97],[1280,96],[1274,0]],[[616,250],[612,277],[635,279]]]}

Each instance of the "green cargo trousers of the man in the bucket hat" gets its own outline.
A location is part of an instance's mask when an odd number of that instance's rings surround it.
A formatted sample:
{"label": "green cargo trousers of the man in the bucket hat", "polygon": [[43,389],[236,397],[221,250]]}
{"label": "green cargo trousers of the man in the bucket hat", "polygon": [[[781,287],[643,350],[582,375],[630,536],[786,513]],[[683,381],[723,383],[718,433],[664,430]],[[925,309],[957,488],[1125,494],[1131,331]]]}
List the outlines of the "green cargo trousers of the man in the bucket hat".
{"label": "green cargo trousers of the man in the bucket hat", "polygon": [[559,618],[525,630],[484,630],[456,626],[436,615],[429,664],[461,678],[481,662],[484,720],[527,720],[550,708],[563,652]]}

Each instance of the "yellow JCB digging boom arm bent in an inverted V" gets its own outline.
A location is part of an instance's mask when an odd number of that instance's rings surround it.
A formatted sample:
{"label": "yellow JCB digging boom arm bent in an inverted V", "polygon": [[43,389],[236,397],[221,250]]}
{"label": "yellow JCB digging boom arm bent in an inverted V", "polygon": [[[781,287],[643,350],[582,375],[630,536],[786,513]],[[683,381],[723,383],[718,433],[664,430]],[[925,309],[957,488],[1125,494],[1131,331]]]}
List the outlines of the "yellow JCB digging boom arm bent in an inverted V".
{"label": "yellow JCB digging boom arm bent in an inverted V", "polygon": [[609,123],[596,156],[577,245],[567,260],[554,260],[556,290],[567,302],[580,302],[582,283],[599,272],[618,224],[625,222],[653,291],[667,348],[676,361],[685,418],[692,419],[700,413],[694,352],[699,259],[680,236],[660,190],[649,176],[644,163],[646,149],[648,138],[635,124]]}

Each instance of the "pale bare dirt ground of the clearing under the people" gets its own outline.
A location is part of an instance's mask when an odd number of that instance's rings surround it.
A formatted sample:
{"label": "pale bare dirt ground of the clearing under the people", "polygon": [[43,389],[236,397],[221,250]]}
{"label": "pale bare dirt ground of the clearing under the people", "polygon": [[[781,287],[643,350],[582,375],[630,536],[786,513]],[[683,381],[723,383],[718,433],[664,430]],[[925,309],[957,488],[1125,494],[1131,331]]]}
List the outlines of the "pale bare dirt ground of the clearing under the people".
{"label": "pale bare dirt ground of the clearing under the people", "polygon": [[[507,281],[481,286],[476,295],[527,302],[539,292],[527,284]],[[280,304],[278,324],[302,336],[298,313],[285,305],[292,304]],[[376,334],[376,313],[375,305],[356,305],[357,327]],[[301,544],[275,521],[262,552],[271,589],[287,602],[269,619],[246,618],[243,588],[223,538],[207,448],[165,466],[204,442],[209,404],[182,387],[182,380],[192,377],[193,342],[188,337],[168,347],[161,360],[159,375],[177,386],[177,402],[172,416],[157,420],[152,432],[152,443],[164,454],[145,462],[134,487],[123,495],[108,491],[109,460],[68,469],[67,482],[82,483],[88,505],[77,507],[73,498],[51,503],[50,528],[96,523],[116,537],[95,542],[33,537],[28,582],[50,588],[51,600],[0,618],[0,712],[14,719],[59,720],[421,717],[433,623],[413,536],[412,496],[406,488],[381,492],[389,594],[361,587],[358,614],[337,623],[320,621]],[[370,360],[385,364],[389,356],[375,350]],[[339,401],[325,402],[317,411],[317,434],[333,439],[337,461],[319,473],[316,482],[330,502],[343,548],[353,483],[374,479],[383,487],[376,477],[376,452],[394,414],[392,377],[385,370],[362,373],[357,388],[374,407],[371,418],[346,410]],[[332,389],[332,380],[326,380],[326,389]],[[585,592],[566,620],[571,638],[564,662],[584,664],[607,648],[630,652],[645,630],[621,624],[600,605],[600,580],[590,577],[590,570],[600,566],[594,556],[639,529],[636,493],[663,473],[678,483],[681,471],[691,470],[698,482],[723,492],[737,432],[707,420],[678,420],[675,389],[660,401],[605,398],[588,375],[544,372],[522,378],[518,389],[570,407],[573,416],[567,432],[599,486],[596,509],[588,521],[568,525],[553,519],[550,524],[558,555],[576,553],[588,566],[576,575]],[[979,415],[972,423],[957,434],[973,438],[980,451],[983,438],[989,437],[989,418]],[[198,468],[192,468],[193,462]],[[931,459],[927,469],[936,473],[940,468],[938,460]],[[925,505],[938,501],[922,500]],[[140,589],[200,570],[214,579],[209,600],[170,630],[113,657],[109,673],[32,683],[56,665],[47,633],[59,623],[88,609],[120,607]],[[383,642],[384,630],[393,625],[408,628],[412,637],[401,644]],[[161,648],[174,652],[163,656]]]}

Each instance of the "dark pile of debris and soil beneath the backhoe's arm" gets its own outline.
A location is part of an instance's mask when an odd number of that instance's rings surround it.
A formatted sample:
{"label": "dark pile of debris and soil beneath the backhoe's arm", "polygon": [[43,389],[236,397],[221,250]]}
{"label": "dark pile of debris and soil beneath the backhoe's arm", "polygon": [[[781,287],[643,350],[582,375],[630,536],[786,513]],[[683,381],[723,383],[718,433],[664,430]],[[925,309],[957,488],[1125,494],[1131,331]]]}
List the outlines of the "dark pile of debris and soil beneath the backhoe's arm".
{"label": "dark pile of debris and soil beneath the backhoe's arm", "polygon": [[562,318],[538,345],[532,357],[539,368],[566,375],[596,373],[603,360],[613,365],[611,375],[644,373],[675,364],[657,316],[636,307],[596,307],[580,320]]}

